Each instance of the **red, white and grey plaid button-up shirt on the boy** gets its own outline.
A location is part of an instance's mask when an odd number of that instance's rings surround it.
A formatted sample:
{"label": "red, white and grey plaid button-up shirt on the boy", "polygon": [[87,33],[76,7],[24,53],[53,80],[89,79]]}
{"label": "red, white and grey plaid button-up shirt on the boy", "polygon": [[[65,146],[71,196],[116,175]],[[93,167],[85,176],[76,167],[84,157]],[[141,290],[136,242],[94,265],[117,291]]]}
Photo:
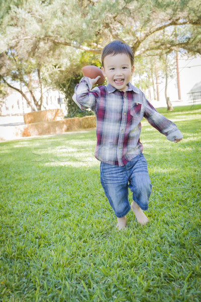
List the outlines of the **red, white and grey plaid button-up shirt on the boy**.
{"label": "red, white and grey plaid button-up shirt on the boy", "polygon": [[143,117],[168,140],[182,137],[176,125],[158,113],[131,83],[126,92],[116,90],[110,84],[91,88],[89,78],[82,78],[75,88],[73,100],[79,108],[90,108],[96,116],[97,160],[124,166],[142,153],[140,122]]}

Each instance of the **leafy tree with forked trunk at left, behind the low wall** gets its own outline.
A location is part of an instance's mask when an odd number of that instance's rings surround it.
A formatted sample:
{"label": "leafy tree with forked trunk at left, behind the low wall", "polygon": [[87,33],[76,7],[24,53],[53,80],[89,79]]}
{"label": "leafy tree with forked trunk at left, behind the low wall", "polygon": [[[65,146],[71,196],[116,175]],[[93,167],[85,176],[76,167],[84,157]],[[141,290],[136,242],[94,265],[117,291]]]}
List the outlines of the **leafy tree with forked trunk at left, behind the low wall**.
{"label": "leafy tree with forked trunk at left, behind the low wall", "polygon": [[[0,57],[0,83],[18,91],[32,111],[41,110],[44,92],[50,88],[58,89],[54,85],[54,77],[62,69],[60,66],[67,66],[71,59],[75,60],[69,49],[52,43],[44,44],[41,39],[16,41]],[[51,78],[52,82],[49,81]]]}

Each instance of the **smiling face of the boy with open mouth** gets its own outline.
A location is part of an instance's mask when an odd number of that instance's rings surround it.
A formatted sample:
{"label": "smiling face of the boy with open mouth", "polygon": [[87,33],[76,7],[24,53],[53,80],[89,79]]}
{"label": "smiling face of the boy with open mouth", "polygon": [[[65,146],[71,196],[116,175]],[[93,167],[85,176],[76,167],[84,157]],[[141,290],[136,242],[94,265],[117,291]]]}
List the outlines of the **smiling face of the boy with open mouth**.
{"label": "smiling face of the boy with open mouth", "polygon": [[134,72],[134,66],[131,66],[131,60],[126,53],[118,53],[105,57],[102,71],[110,85],[125,92]]}

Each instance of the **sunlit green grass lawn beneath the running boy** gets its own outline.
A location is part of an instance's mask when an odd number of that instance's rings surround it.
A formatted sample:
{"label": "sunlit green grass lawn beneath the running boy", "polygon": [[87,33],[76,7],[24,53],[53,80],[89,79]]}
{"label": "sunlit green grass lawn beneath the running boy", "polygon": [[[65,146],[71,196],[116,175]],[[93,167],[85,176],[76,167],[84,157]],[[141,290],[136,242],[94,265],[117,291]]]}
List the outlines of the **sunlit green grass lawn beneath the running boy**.
{"label": "sunlit green grass lawn beneath the running boy", "polygon": [[[124,232],[99,181],[95,130],[2,142],[1,301],[200,301],[201,106],[145,120],[150,222]],[[129,195],[131,201],[131,194]]]}

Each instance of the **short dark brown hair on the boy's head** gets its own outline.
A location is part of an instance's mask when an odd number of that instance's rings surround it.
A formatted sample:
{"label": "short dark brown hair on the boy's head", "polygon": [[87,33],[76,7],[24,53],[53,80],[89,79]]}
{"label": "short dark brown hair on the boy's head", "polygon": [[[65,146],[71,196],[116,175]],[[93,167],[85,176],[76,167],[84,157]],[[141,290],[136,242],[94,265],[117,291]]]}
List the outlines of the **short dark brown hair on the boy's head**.
{"label": "short dark brown hair on the boy's head", "polygon": [[133,51],[128,44],[120,40],[115,40],[104,47],[101,54],[102,66],[104,66],[104,59],[107,55],[116,55],[118,53],[126,53],[131,59],[131,66],[133,66],[134,63]]}

